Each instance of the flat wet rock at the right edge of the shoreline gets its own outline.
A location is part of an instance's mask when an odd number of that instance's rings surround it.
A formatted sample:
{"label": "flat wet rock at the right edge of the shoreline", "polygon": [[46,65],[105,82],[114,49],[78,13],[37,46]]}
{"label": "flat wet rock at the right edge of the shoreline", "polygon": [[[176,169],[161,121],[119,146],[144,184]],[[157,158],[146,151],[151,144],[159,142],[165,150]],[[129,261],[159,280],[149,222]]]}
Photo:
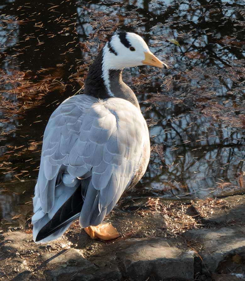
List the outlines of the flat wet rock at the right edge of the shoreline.
{"label": "flat wet rock at the right edge of the shoreline", "polygon": [[220,229],[192,229],[184,236],[202,245],[199,254],[203,258],[202,270],[209,275],[221,271],[221,264],[228,259],[238,261],[245,258],[245,227],[223,227]]}

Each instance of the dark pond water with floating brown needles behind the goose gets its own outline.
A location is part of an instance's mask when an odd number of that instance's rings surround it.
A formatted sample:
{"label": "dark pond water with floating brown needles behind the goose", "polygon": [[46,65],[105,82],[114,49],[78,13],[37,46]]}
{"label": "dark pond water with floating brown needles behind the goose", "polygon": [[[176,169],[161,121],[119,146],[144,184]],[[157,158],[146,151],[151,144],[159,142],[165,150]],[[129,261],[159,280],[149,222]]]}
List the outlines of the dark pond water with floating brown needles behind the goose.
{"label": "dark pond water with floating brown needles behind the goose", "polygon": [[48,118],[83,86],[117,30],[143,36],[170,66],[124,70],[152,145],[146,174],[126,196],[205,198],[245,188],[243,0],[38,2],[0,1],[2,225],[31,216]]}

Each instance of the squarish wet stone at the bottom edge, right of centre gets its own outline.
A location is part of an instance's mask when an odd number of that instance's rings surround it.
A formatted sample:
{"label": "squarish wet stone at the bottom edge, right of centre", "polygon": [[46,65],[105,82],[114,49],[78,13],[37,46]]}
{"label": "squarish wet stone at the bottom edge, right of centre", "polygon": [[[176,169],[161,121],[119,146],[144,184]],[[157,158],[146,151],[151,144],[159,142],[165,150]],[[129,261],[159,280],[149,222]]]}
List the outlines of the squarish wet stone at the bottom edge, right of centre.
{"label": "squarish wet stone at the bottom edge, right of centre", "polygon": [[130,239],[117,250],[118,262],[132,280],[178,280],[194,278],[194,254],[183,252],[163,239]]}

